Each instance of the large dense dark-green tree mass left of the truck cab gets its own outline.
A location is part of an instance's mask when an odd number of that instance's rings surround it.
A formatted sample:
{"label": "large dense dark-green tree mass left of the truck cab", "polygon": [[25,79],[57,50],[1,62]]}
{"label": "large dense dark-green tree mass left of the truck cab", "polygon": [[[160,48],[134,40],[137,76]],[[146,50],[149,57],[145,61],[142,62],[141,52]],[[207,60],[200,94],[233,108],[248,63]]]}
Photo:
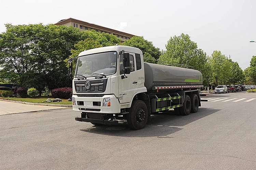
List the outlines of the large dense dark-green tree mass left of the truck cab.
{"label": "large dense dark-green tree mass left of the truck cab", "polygon": [[71,86],[63,60],[81,40],[81,31],[53,24],[5,26],[6,32],[0,34],[0,78],[34,86],[40,94],[45,85],[50,89]]}

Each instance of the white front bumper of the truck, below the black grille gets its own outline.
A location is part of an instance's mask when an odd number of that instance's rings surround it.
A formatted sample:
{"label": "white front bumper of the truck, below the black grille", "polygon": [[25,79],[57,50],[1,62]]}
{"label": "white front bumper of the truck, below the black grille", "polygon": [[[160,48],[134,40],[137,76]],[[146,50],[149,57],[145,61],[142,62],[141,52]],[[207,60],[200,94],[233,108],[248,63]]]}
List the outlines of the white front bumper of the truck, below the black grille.
{"label": "white front bumper of the truck, below the black grille", "polygon": [[[73,95],[76,105],[73,105],[73,111],[87,112],[87,113],[102,113],[102,114],[117,114],[120,113],[120,104],[114,95],[104,95],[102,97],[81,97]],[[111,106],[103,107],[103,99],[110,98]],[[78,105],[78,102],[83,102],[84,105]],[[94,106],[93,102],[100,102],[100,106]]]}

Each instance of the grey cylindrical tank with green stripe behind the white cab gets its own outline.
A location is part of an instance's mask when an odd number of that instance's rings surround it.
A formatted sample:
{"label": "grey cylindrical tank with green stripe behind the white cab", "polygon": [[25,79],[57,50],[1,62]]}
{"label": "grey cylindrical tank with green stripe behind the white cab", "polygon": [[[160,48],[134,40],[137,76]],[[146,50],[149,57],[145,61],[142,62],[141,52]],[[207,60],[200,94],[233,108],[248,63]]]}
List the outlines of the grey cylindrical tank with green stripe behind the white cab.
{"label": "grey cylindrical tank with green stripe behind the white cab", "polygon": [[202,85],[203,76],[198,70],[144,63],[145,87],[153,86]]}

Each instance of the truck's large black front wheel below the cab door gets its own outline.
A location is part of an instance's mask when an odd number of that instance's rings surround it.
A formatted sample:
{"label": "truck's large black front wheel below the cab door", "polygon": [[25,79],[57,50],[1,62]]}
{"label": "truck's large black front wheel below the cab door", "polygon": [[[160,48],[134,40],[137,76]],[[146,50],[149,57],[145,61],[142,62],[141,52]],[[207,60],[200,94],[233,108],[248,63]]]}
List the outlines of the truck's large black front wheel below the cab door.
{"label": "truck's large black front wheel below the cab door", "polygon": [[148,118],[147,105],[142,100],[135,100],[131,104],[127,123],[131,129],[139,130],[146,126]]}

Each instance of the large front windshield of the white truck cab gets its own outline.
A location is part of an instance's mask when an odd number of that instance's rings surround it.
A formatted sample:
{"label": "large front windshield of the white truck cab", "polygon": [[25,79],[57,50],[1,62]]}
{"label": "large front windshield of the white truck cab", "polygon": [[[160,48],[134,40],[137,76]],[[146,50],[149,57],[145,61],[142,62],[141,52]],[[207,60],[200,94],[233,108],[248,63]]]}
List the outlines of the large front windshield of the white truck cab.
{"label": "large front windshield of the white truck cab", "polygon": [[[110,75],[116,72],[117,52],[103,52],[84,55],[77,58],[75,77],[96,77],[99,74]],[[91,74],[95,73],[95,74]],[[98,73],[98,74],[97,74]]]}

